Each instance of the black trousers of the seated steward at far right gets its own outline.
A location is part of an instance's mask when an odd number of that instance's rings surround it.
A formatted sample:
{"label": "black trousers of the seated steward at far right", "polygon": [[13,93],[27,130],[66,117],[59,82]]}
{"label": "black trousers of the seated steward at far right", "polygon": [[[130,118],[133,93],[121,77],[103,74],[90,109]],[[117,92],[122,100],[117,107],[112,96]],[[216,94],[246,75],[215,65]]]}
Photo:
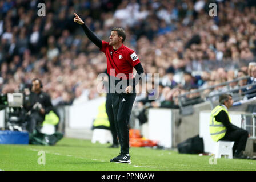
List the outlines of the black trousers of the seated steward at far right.
{"label": "black trousers of the seated steward at far right", "polygon": [[235,151],[237,153],[244,151],[246,147],[246,142],[248,138],[248,131],[244,129],[237,129],[233,131],[227,131],[225,136],[221,138],[221,141],[234,141],[233,146],[233,155],[235,154]]}

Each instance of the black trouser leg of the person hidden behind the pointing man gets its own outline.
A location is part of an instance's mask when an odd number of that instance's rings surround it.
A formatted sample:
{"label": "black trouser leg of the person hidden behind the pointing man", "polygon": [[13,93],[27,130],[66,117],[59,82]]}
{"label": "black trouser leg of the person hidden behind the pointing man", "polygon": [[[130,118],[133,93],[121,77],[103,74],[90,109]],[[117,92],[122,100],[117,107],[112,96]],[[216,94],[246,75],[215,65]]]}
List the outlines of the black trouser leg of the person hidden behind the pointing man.
{"label": "black trouser leg of the person hidden behind the pointing man", "polygon": [[113,144],[118,144],[117,129],[115,129],[115,118],[114,118],[114,111],[112,108],[112,98],[113,98],[113,93],[107,93],[106,113],[107,113],[107,117],[109,118],[110,131],[113,137]]}

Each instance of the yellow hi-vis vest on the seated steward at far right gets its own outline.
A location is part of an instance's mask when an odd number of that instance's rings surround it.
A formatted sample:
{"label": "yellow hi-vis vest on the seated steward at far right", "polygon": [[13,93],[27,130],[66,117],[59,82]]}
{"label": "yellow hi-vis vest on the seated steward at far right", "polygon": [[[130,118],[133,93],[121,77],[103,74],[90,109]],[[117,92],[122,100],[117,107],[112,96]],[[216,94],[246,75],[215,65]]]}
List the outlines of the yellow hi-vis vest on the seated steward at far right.
{"label": "yellow hi-vis vest on the seated steward at far right", "polygon": [[[225,111],[227,113],[227,116],[229,117],[229,113],[227,112],[226,108],[218,105],[211,111],[211,117],[210,117],[210,134],[211,138],[214,140],[214,142],[218,142],[221,138],[223,138],[226,134],[226,127],[223,125],[222,122],[218,122],[215,119],[215,116],[219,114],[220,111]],[[231,119],[229,117],[229,122],[231,122]]]}

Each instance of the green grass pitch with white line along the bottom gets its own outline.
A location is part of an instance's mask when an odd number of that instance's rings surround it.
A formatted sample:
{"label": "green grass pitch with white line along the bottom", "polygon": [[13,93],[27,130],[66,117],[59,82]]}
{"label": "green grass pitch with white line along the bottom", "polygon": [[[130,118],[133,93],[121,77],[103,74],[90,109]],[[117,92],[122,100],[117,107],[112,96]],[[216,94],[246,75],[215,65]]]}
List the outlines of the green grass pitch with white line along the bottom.
{"label": "green grass pitch with white line along the bottom", "polygon": [[[0,145],[0,170],[255,170],[255,160],[218,159],[210,156],[178,154],[172,150],[130,149],[131,164],[110,163],[118,148],[92,144],[89,140],[63,138],[55,146]],[[38,164],[38,151],[45,151],[45,165]]]}

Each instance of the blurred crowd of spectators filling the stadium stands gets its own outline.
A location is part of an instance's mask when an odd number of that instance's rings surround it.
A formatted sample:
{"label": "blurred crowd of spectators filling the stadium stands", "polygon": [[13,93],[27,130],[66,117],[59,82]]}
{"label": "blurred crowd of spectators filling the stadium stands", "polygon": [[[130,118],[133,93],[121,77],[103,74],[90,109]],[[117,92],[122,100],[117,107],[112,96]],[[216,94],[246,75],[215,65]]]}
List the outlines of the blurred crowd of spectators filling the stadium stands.
{"label": "blurred crowd of spectators filling the stadium stands", "polygon": [[[41,2],[45,17],[37,14]],[[211,2],[218,4],[217,17],[209,16]],[[254,1],[0,0],[2,93],[38,77],[55,106],[101,96],[97,76],[106,58],[73,22],[73,12],[102,40],[113,27],[126,30],[125,45],[137,52],[145,73],[161,78],[153,107],[176,108],[181,93],[247,76],[256,55]],[[233,86],[239,84],[245,83]],[[146,94],[138,93],[137,101],[146,104]]]}

